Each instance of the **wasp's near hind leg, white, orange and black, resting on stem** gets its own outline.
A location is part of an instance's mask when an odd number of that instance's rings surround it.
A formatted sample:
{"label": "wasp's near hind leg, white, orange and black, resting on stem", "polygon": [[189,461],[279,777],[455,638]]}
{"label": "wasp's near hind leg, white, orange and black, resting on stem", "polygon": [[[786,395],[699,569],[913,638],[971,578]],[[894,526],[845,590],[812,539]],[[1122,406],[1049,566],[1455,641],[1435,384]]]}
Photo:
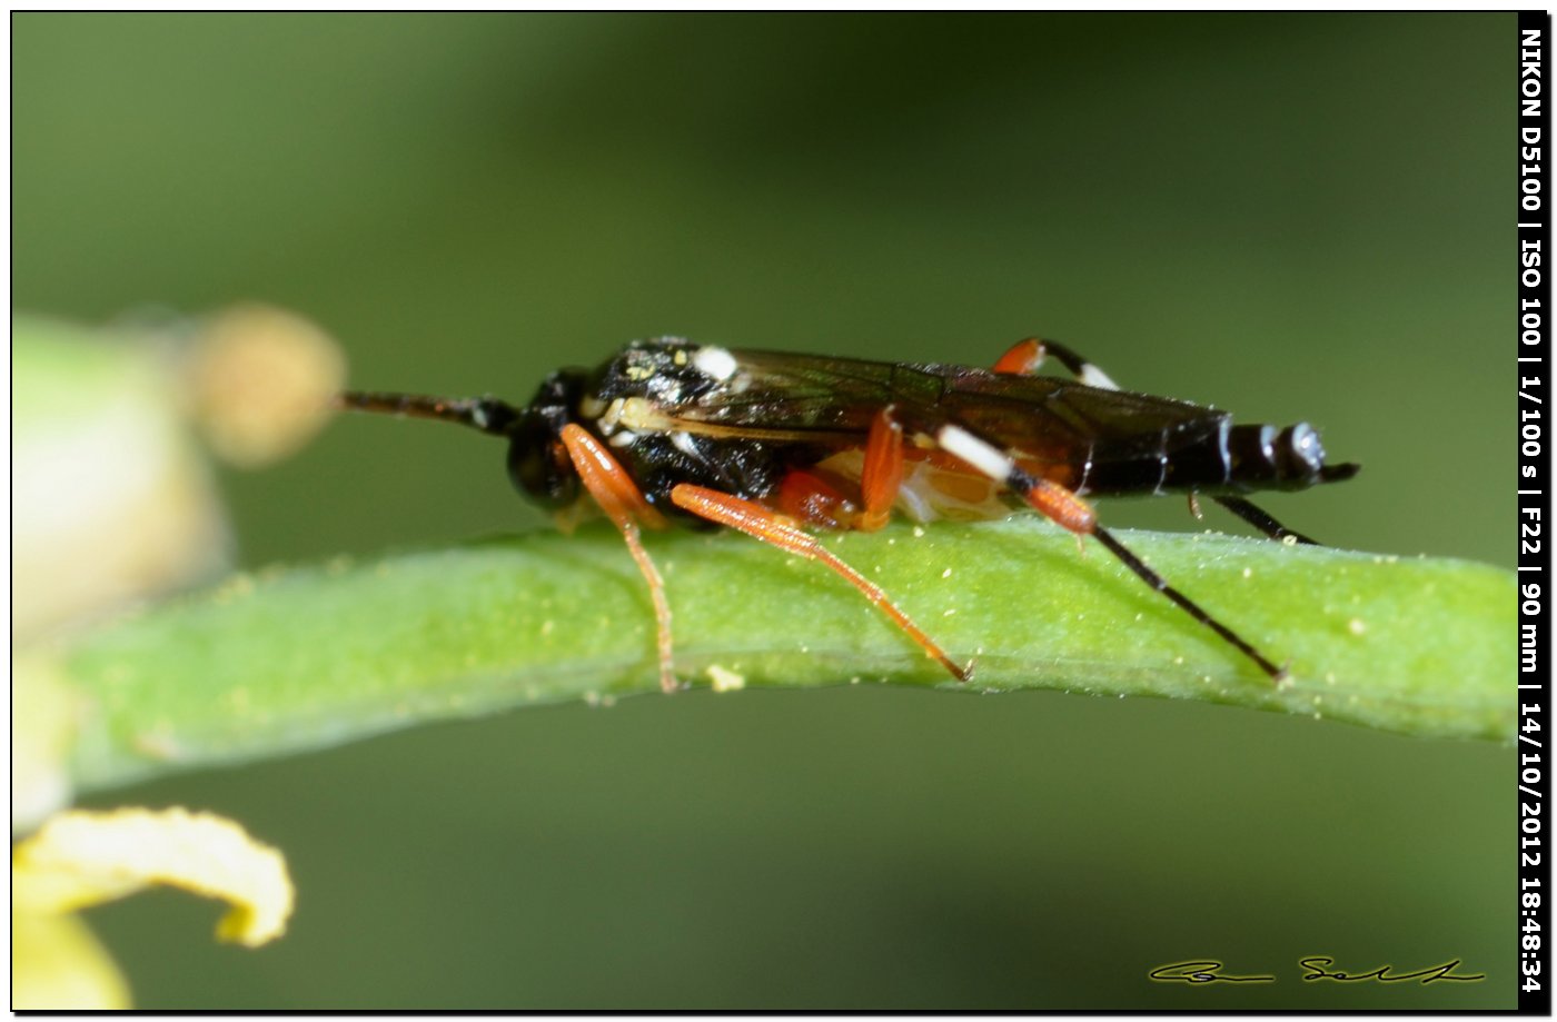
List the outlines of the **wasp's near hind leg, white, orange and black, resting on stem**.
{"label": "wasp's near hind leg, white, orange and black, resting on stem", "polygon": [[1285,668],[1277,667],[1238,633],[1211,617],[1199,603],[1169,586],[1162,575],[1149,569],[1146,562],[1135,555],[1135,552],[1115,539],[1113,533],[1098,523],[1098,514],[1085,500],[1073,494],[1065,486],[1029,474],[1006,452],[956,424],[942,425],[936,432],[936,444],[953,458],[968,464],[973,470],[1010,488],[1035,511],[1065,530],[1074,533],[1076,536],[1093,536],[1098,542],[1109,548],[1109,553],[1116,556],[1127,569],[1135,572],[1141,581],[1172,600],[1179,609],[1185,611],[1190,617],[1214,631],[1227,643],[1258,664],[1260,670],[1269,675],[1274,681],[1281,681],[1286,676]]}

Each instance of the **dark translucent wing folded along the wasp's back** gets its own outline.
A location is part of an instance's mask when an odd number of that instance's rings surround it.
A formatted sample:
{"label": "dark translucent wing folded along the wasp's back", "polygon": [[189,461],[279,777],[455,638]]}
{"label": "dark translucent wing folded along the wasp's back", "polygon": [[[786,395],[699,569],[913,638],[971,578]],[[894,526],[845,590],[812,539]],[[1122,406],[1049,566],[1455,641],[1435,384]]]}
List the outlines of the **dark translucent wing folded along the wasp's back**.
{"label": "dark translucent wing folded along the wasp's back", "polygon": [[[898,365],[785,352],[732,351],[733,386],[668,408],[680,419],[735,428],[855,435],[891,404],[911,430],[958,422],[1039,461],[1157,461],[1213,439],[1227,414],[1166,397],[1109,391],[1057,377],[951,365]],[[835,441],[836,442],[836,441]]]}

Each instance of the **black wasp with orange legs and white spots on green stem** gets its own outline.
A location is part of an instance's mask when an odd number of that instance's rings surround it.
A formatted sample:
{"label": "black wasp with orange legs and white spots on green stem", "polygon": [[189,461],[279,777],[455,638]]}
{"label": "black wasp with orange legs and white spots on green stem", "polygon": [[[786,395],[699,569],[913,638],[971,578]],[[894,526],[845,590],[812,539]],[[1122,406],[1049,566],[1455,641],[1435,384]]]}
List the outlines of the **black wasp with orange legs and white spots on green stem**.
{"label": "black wasp with orange legs and white spots on green stem", "polygon": [[[1074,379],[1039,375],[1053,357]],[[562,516],[593,503],[621,531],[654,604],[660,685],[677,687],[665,583],[640,530],[726,527],[817,561],[858,589],[954,678],[953,661],[887,594],[811,530],[989,519],[1026,505],[1102,544],[1148,586],[1280,681],[1232,628],[1098,522],[1087,497],[1207,494],[1272,539],[1314,542],[1242,494],[1347,480],[1319,433],[1235,425],[1205,405],[1121,389],[1056,341],[1029,338],[993,368],[906,365],[634,341],[596,369],[548,375],[525,407],[347,391],[339,408],[458,422],[508,441],[514,486]],[[571,520],[571,519],[565,519]]]}

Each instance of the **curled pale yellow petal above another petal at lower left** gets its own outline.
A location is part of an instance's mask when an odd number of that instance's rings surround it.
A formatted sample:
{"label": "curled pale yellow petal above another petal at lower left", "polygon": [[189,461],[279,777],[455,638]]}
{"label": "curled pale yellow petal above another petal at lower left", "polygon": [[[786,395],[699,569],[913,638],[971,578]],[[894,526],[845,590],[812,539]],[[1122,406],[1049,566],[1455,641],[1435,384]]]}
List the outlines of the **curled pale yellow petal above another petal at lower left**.
{"label": "curled pale yellow petal above another petal at lower left", "polygon": [[153,883],[232,902],[216,936],[254,947],[280,936],[293,886],[280,852],[243,827],[182,809],[69,812],[16,846],[17,913],[53,915],[123,897]]}

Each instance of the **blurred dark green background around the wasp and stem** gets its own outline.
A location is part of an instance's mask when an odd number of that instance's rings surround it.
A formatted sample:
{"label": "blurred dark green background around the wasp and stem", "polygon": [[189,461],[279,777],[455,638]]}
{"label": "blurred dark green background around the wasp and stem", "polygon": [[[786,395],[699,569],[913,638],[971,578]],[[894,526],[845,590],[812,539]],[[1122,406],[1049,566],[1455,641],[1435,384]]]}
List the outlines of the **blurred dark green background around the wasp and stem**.
{"label": "blurred dark green background around the wasp and stem", "polygon": [[[14,301],[263,299],[357,385],[520,400],[654,333],[1045,333],[1319,425],[1365,470],[1267,502],[1297,528],[1512,566],[1513,48],[1512,14],[19,14]],[[343,421],[224,485],[251,567],[543,527],[458,430]],[[699,692],[103,793],[238,818],[301,908],[258,952],[182,894],[90,918],[146,1008],[1512,1006],[1512,773],[1210,706]],[[1194,958],[1278,981],[1146,978]]]}

